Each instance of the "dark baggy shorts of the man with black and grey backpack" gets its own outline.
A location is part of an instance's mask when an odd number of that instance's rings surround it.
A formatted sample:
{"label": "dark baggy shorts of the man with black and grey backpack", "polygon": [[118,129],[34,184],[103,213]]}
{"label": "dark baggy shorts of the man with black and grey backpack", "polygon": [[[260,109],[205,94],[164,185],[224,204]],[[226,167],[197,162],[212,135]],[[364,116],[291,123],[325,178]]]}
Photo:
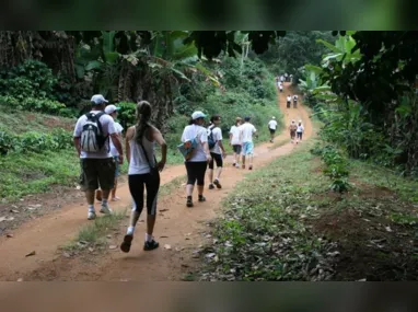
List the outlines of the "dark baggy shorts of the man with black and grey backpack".
{"label": "dark baggy shorts of the man with black and grey backpack", "polygon": [[115,185],[116,163],[113,158],[81,159],[81,190],[112,189]]}

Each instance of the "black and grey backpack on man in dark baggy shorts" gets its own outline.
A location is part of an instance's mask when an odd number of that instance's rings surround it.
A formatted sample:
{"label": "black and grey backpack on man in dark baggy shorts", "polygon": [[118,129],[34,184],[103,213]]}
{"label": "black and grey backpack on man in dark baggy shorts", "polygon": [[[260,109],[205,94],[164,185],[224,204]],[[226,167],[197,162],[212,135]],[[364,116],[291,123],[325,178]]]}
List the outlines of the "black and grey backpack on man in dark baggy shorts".
{"label": "black and grey backpack on man in dark baggy shorts", "polygon": [[81,131],[81,150],[84,152],[98,152],[104,147],[108,136],[103,135],[102,124],[98,120],[105,113],[88,113],[88,120]]}

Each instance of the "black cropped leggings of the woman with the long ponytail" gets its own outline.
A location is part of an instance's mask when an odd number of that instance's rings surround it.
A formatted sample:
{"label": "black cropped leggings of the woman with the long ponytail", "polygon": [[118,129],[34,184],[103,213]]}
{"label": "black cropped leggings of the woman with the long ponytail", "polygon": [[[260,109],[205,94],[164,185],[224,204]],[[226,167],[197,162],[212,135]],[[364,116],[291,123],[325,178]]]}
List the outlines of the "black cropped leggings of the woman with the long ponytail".
{"label": "black cropped leggings of the woman with the long ponytail", "polygon": [[155,216],[156,197],[160,189],[160,178],[153,180],[149,173],[129,175],[129,190],[135,200],[135,209],[139,215],[143,209],[143,185],[147,188],[147,212]]}

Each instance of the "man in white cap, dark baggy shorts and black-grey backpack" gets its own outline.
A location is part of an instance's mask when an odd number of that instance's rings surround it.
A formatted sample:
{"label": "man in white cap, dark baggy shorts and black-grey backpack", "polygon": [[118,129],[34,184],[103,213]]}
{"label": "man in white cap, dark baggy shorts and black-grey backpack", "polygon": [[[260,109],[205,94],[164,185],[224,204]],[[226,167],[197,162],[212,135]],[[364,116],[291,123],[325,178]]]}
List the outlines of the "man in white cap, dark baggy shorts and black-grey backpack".
{"label": "man in white cap, dark baggy shorts and black-grey backpack", "polygon": [[89,220],[96,218],[94,193],[98,186],[102,188],[100,212],[112,213],[107,199],[115,184],[116,165],[111,154],[109,140],[119,153],[119,164],[124,163],[124,151],[115,129],[115,122],[103,112],[108,101],[102,94],[96,94],[92,96],[91,103],[91,112],[77,120],[73,132],[73,143],[81,164],[80,186],[85,193],[89,205]]}

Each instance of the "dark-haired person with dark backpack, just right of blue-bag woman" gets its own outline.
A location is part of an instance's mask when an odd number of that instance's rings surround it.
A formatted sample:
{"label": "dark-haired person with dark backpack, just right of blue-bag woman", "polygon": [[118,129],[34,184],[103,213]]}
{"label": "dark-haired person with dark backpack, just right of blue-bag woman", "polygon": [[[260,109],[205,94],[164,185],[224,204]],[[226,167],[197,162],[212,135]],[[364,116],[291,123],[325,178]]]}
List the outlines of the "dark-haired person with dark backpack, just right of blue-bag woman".
{"label": "dark-haired person with dark backpack, just right of blue-bag woman", "polygon": [[[210,149],[210,155],[212,157],[209,162],[209,189],[213,189],[214,186],[222,188],[221,183],[219,182],[223,167],[223,159],[225,158],[225,149],[222,143],[222,130],[219,127],[221,124],[221,116],[213,115],[210,118],[212,125],[208,128],[208,145]],[[212,147],[213,145],[213,147]],[[213,162],[217,162],[217,177],[213,181]]]}

